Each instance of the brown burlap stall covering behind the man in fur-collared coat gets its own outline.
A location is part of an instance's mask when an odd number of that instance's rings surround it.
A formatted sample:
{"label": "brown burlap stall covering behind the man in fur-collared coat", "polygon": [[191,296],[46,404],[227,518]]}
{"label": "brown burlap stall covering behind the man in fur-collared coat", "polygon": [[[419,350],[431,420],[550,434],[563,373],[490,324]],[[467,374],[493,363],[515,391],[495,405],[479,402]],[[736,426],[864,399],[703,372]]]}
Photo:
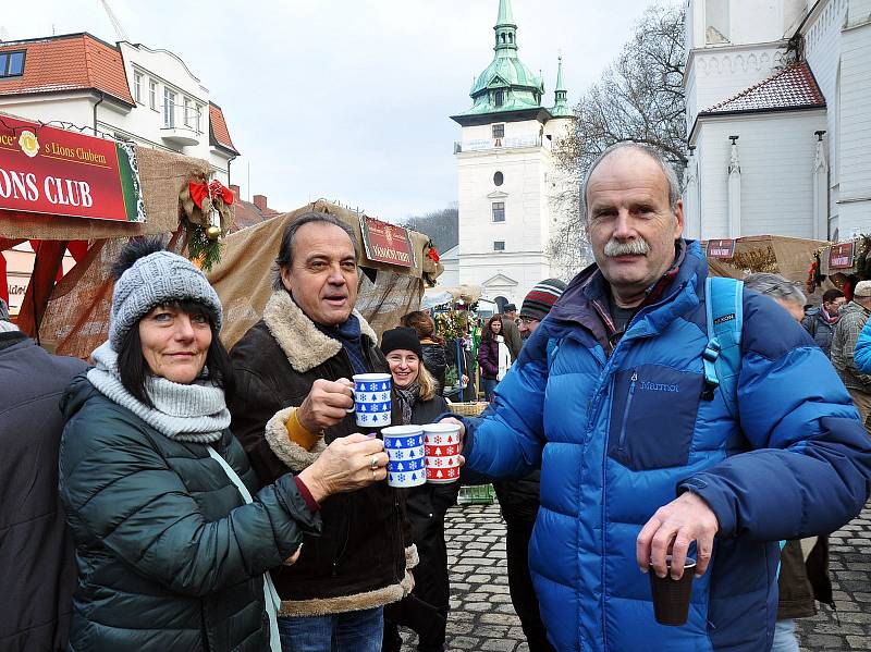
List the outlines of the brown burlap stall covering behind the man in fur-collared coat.
{"label": "brown burlap stall covering behind the man in fur-collared coat", "polygon": [[[221,340],[228,348],[232,348],[262,315],[272,292],[274,260],[285,227],[300,214],[310,211],[334,214],[351,226],[360,244],[358,263],[377,270],[375,283],[366,274],[360,275],[357,307],[367,320],[373,322],[372,327],[379,334],[384,329],[398,324],[400,317],[416,310],[420,305],[424,292],[421,266],[429,238],[422,233],[412,232],[417,263],[414,268],[372,262],[365,256],[358,214],[335,204],[319,200],[237,231],[222,241],[221,262],[207,276],[224,307]],[[436,269],[436,273],[438,271]]]}

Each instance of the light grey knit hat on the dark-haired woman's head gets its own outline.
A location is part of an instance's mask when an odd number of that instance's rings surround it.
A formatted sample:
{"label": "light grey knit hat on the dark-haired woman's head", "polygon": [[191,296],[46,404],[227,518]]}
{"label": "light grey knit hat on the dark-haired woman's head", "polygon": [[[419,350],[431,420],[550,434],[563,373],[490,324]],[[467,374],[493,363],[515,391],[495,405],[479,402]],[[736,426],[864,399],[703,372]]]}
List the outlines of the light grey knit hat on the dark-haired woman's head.
{"label": "light grey knit hat on the dark-haired woman's head", "polygon": [[156,306],[191,300],[203,304],[221,330],[223,313],[218,293],[194,265],[171,251],[156,251],[136,260],[115,281],[109,342],[118,353],[127,331]]}

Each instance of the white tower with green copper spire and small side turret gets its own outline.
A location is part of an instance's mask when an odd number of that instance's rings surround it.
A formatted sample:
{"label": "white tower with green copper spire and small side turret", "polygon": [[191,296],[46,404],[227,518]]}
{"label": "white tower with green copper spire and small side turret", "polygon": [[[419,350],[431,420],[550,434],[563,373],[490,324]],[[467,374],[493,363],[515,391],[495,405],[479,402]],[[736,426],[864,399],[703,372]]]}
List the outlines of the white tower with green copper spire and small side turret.
{"label": "white tower with green copper spire and small side turret", "polygon": [[562,61],[554,103],[545,107],[544,83],[517,56],[511,0],[500,0],[495,54],[478,75],[473,106],[452,115],[461,125],[454,145],[459,204],[459,282],[481,286],[481,296],[520,303],[552,276],[547,256],[555,230],[551,210],[557,174],[552,147],[574,114],[563,85]]}

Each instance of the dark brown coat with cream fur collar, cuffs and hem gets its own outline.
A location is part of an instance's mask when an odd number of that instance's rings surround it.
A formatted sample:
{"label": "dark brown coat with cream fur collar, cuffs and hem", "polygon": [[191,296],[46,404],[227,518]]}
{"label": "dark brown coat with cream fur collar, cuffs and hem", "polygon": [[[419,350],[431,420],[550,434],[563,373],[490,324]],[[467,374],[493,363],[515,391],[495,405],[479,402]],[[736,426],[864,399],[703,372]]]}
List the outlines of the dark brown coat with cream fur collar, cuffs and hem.
{"label": "dark brown coat with cream fur collar, cuffs and hem", "polygon": [[[359,313],[354,313],[360,321],[363,350],[371,370],[389,371],[375,332]],[[317,459],[324,444],[319,442],[305,451],[293,443],[284,427],[289,408],[299,406],[319,378],[349,379],[354,371],[347,354],[281,291],[270,297],[263,319],[236,343],[231,358],[236,392],[230,405],[230,428],[248,453],[260,481],[266,484],[289,471],[299,472]],[[326,443],[358,430],[354,415],[348,415],[327,429]],[[272,571],[282,599],[281,615],[371,608],[406,595],[410,581],[403,501],[385,482],[323,501],[321,537],[306,539],[293,566]],[[408,568],[414,563],[409,558]]]}

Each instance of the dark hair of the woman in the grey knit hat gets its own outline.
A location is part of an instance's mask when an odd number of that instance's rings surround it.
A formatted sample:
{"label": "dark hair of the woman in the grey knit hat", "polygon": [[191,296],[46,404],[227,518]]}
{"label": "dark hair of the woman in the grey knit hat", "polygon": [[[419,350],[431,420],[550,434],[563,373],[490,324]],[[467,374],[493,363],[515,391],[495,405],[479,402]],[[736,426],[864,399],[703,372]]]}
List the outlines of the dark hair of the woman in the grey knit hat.
{"label": "dark hair of the woman in the grey knit hat", "polygon": [[[206,369],[208,371],[206,379],[212,381],[216,386],[221,387],[224,391],[226,402],[230,403],[235,391],[233,365],[230,361],[230,355],[218,336],[218,331],[214,328],[214,318],[211,312],[203,304],[191,300],[172,302],[161,304],[161,306],[181,310],[192,316],[203,315],[209,320],[211,344],[209,344],[209,349],[206,353]],[[155,308],[157,307],[155,306]],[[148,367],[145,356],[143,356],[143,343],[139,339],[138,323],[133,325],[121,341],[121,350],[118,353],[118,371],[124,389],[140,403],[148,407],[154,407],[151,398],[145,389],[145,381],[151,376],[151,369]]]}

